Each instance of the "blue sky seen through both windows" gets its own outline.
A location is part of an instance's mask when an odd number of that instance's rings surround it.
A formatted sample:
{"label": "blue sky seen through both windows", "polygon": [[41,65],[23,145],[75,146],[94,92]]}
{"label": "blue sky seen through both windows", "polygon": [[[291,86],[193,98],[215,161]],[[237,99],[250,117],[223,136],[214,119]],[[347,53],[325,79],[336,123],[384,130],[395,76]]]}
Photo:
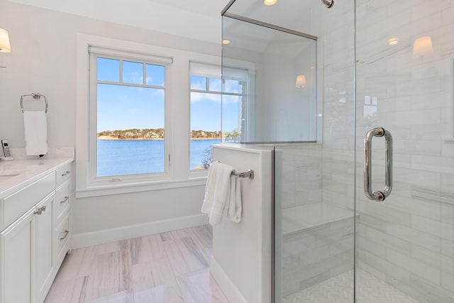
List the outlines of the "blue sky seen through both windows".
{"label": "blue sky seen through both windows", "polygon": [[[98,59],[98,79],[119,82],[118,60]],[[123,62],[123,83],[143,84],[143,64]],[[164,67],[145,66],[146,84],[164,87]],[[192,88],[204,89],[199,77],[193,77]],[[226,82],[229,91],[238,91],[238,82]],[[211,78],[211,91],[221,92],[221,79]],[[132,87],[116,84],[98,84],[97,130],[114,131],[128,128],[164,128],[164,89]],[[223,101],[223,130],[238,128],[238,97],[226,97]],[[191,129],[203,131],[221,130],[221,95],[191,94]]]}

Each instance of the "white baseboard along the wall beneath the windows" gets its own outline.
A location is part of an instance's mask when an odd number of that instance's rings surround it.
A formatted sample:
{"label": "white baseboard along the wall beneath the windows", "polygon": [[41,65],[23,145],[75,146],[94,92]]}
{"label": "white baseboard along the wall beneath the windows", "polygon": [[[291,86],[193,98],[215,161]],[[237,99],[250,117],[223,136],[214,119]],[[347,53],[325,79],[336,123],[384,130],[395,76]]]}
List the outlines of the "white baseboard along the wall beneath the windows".
{"label": "white baseboard along the wall beneath the windows", "polygon": [[177,229],[188,228],[208,224],[206,214],[194,216],[183,216],[181,218],[155,221],[145,224],[122,226],[119,228],[104,229],[91,233],[73,234],[71,238],[71,248],[83,248],[104,243],[138,238],[152,235],[154,233],[165,233],[166,231],[176,231]]}

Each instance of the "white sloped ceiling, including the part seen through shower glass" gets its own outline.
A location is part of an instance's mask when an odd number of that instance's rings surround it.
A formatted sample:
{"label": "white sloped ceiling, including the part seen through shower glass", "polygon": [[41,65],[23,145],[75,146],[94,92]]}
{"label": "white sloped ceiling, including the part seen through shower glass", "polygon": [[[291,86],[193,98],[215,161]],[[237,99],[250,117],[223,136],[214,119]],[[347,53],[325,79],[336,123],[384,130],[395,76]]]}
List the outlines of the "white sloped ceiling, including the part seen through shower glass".
{"label": "white sloped ceiling, including the part seen through shower glass", "polygon": [[[229,0],[6,1],[147,28],[210,43],[221,42],[221,11],[229,2]],[[304,16],[310,16],[311,12],[314,13],[314,7],[320,9],[321,6],[317,0],[282,0],[275,6],[264,6],[263,0],[237,0],[228,12],[309,33],[309,30],[306,31],[307,26],[304,26],[309,19]],[[249,28],[248,34],[254,36],[250,31],[253,29]]]}

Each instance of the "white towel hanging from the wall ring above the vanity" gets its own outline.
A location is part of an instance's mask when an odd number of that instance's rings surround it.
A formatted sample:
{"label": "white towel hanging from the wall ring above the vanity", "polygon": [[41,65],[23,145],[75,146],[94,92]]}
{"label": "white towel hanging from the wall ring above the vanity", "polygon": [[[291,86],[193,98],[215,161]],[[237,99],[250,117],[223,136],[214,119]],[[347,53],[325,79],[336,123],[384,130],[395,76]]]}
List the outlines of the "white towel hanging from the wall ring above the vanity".
{"label": "white towel hanging from the wall ring above the vanity", "polygon": [[24,111],[23,126],[27,155],[45,155],[48,152],[48,120],[44,111]]}

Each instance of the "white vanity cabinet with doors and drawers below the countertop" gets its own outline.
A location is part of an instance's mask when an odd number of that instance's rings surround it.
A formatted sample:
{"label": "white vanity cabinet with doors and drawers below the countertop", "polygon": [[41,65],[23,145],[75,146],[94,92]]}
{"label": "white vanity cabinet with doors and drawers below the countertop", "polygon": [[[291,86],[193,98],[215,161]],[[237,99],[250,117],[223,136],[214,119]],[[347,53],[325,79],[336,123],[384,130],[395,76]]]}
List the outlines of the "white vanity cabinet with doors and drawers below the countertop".
{"label": "white vanity cabinet with doors and drawers below the countertop", "polygon": [[44,301],[70,248],[71,167],[0,199],[0,303]]}

